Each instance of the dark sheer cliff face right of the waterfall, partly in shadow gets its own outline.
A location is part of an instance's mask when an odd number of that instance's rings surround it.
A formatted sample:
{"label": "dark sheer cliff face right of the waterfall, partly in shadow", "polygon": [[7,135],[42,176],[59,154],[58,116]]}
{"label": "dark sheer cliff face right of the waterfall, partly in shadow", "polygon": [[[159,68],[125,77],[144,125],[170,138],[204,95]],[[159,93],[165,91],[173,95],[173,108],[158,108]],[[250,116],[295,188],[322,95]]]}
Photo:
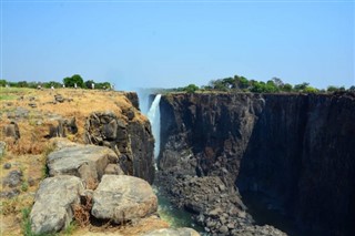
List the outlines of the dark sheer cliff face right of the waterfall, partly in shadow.
{"label": "dark sheer cliff face right of the waterfall, partly in shadow", "polygon": [[219,176],[304,233],[355,230],[351,94],[169,94],[161,121],[162,175]]}

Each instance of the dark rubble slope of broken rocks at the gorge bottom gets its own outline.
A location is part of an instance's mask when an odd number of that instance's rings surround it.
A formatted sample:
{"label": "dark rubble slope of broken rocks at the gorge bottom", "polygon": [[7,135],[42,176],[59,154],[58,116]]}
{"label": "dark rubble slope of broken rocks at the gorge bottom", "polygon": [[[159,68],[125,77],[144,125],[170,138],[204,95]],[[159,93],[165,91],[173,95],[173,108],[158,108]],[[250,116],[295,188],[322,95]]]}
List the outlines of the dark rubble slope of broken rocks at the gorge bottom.
{"label": "dark rubble slope of broken rocks at the gorge bottom", "polygon": [[160,172],[156,182],[172,203],[195,214],[195,220],[212,235],[231,235],[232,229],[251,225],[252,217],[235,189],[219,176],[190,176]]}

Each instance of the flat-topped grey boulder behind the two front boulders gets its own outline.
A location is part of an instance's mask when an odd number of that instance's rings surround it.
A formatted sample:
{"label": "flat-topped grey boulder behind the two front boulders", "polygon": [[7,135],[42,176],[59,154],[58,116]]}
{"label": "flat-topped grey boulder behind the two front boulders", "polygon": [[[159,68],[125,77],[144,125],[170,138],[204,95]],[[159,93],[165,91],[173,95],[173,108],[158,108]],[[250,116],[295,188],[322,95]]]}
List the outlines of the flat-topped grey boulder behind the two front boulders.
{"label": "flat-topped grey boulder behind the two front boulders", "polygon": [[109,164],[116,164],[116,154],[103,146],[71,145],[48,155],[50,176],[75,175],[89,182],[98,183]]}

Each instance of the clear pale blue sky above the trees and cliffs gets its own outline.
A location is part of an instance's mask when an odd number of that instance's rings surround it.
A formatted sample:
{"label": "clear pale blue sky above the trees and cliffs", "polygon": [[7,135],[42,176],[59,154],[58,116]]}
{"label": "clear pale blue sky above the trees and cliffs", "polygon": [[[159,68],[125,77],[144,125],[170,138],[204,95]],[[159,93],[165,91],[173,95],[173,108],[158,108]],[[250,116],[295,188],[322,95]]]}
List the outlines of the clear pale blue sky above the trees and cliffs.
{"label": "clear pale blue sky above the trees and cliffs", "polygon": [[0,0],[8,81],[80,74],[118,90],[243,75],[355,84],[352,1]]}

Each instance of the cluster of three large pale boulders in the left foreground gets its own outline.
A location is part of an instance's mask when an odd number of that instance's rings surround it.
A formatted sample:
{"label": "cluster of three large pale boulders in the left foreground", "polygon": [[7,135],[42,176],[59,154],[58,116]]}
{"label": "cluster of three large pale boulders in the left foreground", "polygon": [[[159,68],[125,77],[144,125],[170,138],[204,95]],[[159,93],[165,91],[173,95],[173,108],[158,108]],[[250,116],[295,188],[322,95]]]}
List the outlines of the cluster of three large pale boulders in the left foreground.
{"label": "cluster of three large pale boulders in the left foreground", "polygon": [[80,224],[89,224],[90,217],[122,224],[156,213],[152,187],[144,179],[123,175],[111,148],[63,138],[53,143],[54,151],[47,157],[52,177],[41,183],[31,211],[34,233],[59,232],[74,216]]}

